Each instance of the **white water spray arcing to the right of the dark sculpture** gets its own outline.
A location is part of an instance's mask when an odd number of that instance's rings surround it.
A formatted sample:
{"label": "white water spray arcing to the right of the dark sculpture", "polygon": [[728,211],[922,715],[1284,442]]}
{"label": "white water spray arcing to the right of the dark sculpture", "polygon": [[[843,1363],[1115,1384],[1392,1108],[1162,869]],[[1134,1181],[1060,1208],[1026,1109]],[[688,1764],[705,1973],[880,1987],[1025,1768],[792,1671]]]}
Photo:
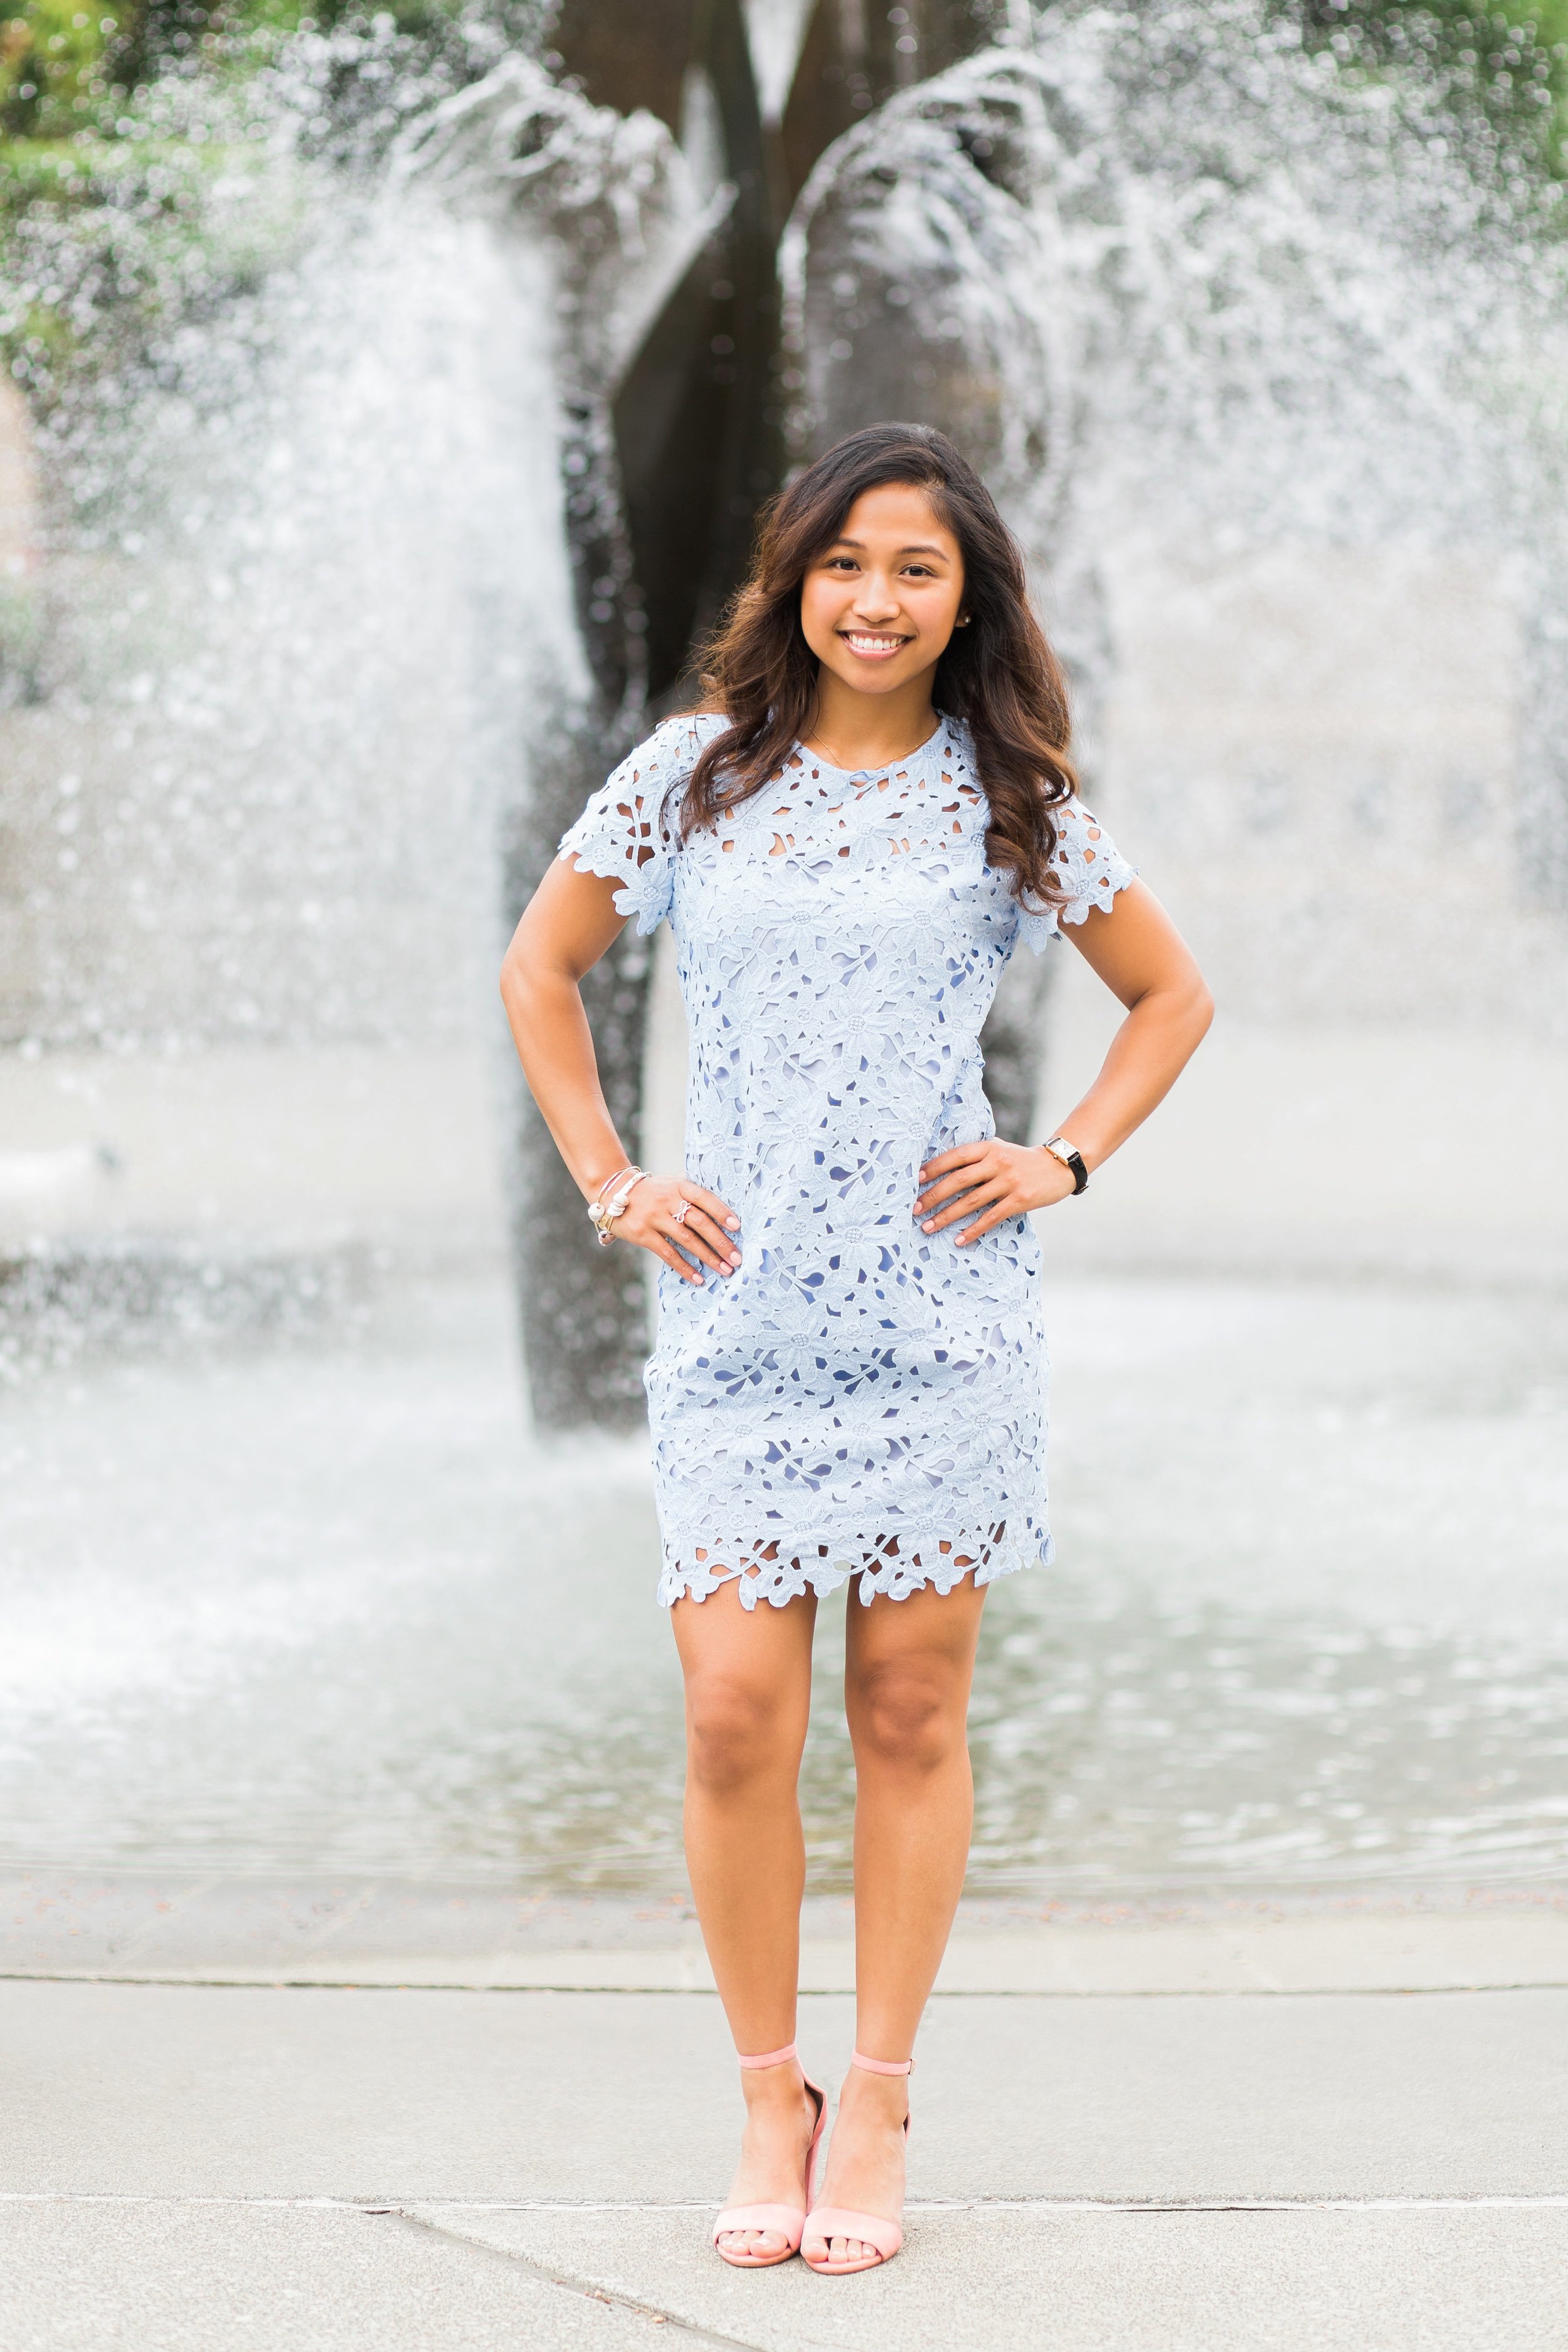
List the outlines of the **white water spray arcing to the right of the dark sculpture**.
{"label": "white water spray arcing to the right of the dark sculpture", "polygon": [[[1561,659],[1523,644],[1568,626],[1563,263],[1403,99],[1340,87],[1246,7],[1067,14],[891,99],[790,221],[795,435],[823,447],[903,402],[980,454],[1077,675],[1091,788],[1098,769],[1124,826],[1229,901],[1204,936],[1222,1000],[1234,971],[1286,1018],[1540,1035],[1563,1004],[1568,769]],[[1150,628],[1213,649],[1232,717],[1213,706],[1197,743],[1171,727],[1192,701],[1173,680],[1126,736],[1147,703],[1126,640]],[[1368,706],[1422,633],[1469,640],[1450,680],[1469,708],[1401,713],[1403,743],[1378,741]],[[1291,668],[1298,710],[1248,713]],[[1394,955],[1392,870],[1443,908],[1441,927],[1410,910]],[[1239,936],[1253,894],[1267,976]]]}

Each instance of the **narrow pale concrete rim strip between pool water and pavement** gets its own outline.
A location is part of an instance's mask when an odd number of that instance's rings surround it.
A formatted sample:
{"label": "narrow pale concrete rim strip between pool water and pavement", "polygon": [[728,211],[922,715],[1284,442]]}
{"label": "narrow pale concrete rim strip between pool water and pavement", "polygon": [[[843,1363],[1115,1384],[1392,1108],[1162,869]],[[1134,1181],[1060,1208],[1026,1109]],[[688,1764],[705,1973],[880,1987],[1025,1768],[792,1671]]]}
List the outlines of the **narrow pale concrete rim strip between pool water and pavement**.
{"label": "narrow pale concrete rim strip between pool water and pavement", "polygon": [[[0,1877],[0,1978],[712,1992],[691,1905],[440,1879],[249,1872]],[[802,1922],[804,1992],[853,1990],[853,1910]],[[1568,1987],[1568,1893],[976,1900],[938,1992],[1474,1992]]]}

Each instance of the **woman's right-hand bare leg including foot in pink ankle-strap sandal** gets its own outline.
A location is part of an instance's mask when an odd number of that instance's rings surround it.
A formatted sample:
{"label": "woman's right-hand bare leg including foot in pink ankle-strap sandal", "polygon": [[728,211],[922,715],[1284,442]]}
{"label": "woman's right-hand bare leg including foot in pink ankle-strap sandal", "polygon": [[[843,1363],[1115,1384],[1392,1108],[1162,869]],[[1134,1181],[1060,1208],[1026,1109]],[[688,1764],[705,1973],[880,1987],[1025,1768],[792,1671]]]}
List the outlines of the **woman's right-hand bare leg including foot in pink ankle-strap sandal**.
{"label": "woman's right-hand bare leg including foot in pink ankle-strap sandal", "polygon": [[[907,2058],[964,1891],[973,1776],[969,1686],[985,1590],[849,1602],[844,1710],[856,1748],[856,2046]],[[851,2067],[823,2201],[903,2211],[907,2082]],[[820,2246],[806,2227],[806,2246]],[[875,2249],[832,2239],[832,2260]]]}

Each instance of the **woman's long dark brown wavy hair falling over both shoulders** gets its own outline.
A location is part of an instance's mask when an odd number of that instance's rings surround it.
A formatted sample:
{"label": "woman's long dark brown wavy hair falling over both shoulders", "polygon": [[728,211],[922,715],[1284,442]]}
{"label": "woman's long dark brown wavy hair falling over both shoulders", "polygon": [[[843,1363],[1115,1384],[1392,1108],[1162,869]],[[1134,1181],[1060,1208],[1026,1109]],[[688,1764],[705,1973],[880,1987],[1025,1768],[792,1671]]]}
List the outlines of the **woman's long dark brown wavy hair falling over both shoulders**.
{"label": "woman's long dark brown wavy hair falling over both shoulders", "polygon": [[839,539],[867,489],[924,489],[964,555],[969,628],[954,628],[931,699],[969,724],[985,790],[987,861],[1013,896],[1053,906],[1051,811],[1077,793],[1067,757],[1067,687],[1030,609],[1018,541],[997,501],[933,426],[865,426],[806,466],[762,515],[752,576],[701,656],[703,701],[729,720],[703,750],[679,804],[679,840],[741,807],[811,731],[818,661],[799,626],[809,567]]}

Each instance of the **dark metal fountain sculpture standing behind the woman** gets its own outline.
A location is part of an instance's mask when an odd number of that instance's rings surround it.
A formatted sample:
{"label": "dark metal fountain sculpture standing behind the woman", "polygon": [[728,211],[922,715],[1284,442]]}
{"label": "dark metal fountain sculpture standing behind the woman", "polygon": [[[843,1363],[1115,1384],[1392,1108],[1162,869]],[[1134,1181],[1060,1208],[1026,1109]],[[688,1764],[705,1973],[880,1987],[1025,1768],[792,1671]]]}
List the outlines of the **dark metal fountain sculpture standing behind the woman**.
{"label": "dark metal fountain sculpture standing behind the woman", "polygon": [[[691,644],[745,572],[757,506],[790,456],[863,421],[842,397],[802,405],[799,353],[780,334],[778,247],[825,151],[898,92],[994,40],[990,0],[818,0],[788,92],[764,103],[741,0],[567,0],[552,71],[595,106],[649,108],[693,169],[724,183],[722,216],[670,289],[614,397],[583,395],[564,452],[567,515],[595,708],[564,717],[536,760],[527,816],[508,844],[508,901],[536,887],[564,826],[630,743],[691,687]],[[889,313],[891,318],[891,313]],[[889,348],[903,350],[893,339]],[[973,437],[966,372],[879,372],[877,414]],[[924,365],[924,360],[922,360]],[[795,435],[788,423],[795,416]],[[649,943],[623,934],[585,985],[604,1091],[635,1155]],[[1037,976],[999,1004],[987,1035],[992,1101],[1027,1131],[1037,1058]],[[1013,1002],[1016,1000],[1016,1002]],[[644,1268],[602,1251],[576,1185],[524,1108],[517,1155],[517,1268],[534,1411],[543,1425],[618,1425],[642,1414]]]}

